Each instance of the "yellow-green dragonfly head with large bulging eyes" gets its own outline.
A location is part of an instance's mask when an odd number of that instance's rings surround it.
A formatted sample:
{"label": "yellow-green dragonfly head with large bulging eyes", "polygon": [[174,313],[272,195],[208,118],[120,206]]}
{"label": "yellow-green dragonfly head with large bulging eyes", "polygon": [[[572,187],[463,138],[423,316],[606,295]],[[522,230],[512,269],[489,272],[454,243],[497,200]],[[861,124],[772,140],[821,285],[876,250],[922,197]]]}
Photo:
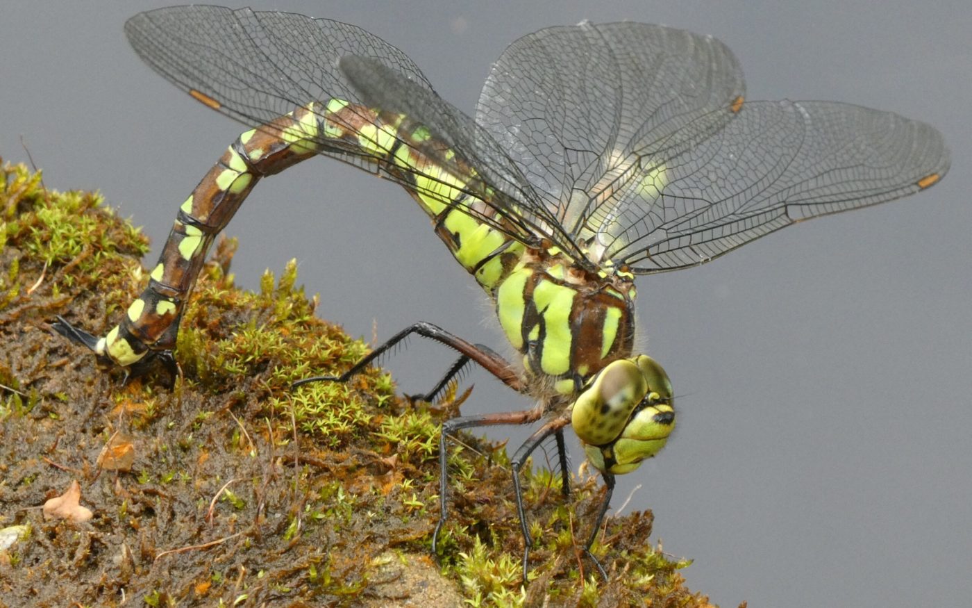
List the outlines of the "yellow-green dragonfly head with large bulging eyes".
{"label": "yellow-green dragonfly head with large bulging eyes", "polygon": [[620,475],[661,451],[675,428],[672,382],[654,359],[618,359],[573,402],[571,422],[599,471]]}

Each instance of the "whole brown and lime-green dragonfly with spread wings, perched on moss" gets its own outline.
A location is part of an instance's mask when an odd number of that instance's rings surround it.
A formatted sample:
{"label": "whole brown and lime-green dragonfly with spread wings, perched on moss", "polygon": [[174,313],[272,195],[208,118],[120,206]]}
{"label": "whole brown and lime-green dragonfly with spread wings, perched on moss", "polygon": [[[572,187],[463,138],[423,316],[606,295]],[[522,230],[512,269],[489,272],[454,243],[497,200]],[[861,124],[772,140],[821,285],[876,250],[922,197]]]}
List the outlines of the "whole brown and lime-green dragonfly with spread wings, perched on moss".
{"label": "whole brown and lime-green dragonfly with spread wings, perched on moss", "polygon": [[[436,553],[448,510],[447,438],[534,424],[512,458],[527,580],[531,534],[519,471],[572,427],[606,491],[665,447],[672,383],[634,352],[635,278],[707,263],[797,222],[918,193],[949,169],[932,126],[833,101],[749,101],[719,40],[637,22],[555,26],[511,44],[473,116],[443,100],[415,63],[357,26],[301,15],[186,6],[125,23],[135,52],[194,99],[250,126],[180,206],[148,287],[104,337],[58,317],[54,329],[99,363],[142,374],[172,350],[215,236],[260,179],[324,156],[402,186],[494,304],[520,359],[426,322],[340,375],[422,336],[533,400],[461,415],[439,438]],[[126,376],[127,377],[127,376]]]}

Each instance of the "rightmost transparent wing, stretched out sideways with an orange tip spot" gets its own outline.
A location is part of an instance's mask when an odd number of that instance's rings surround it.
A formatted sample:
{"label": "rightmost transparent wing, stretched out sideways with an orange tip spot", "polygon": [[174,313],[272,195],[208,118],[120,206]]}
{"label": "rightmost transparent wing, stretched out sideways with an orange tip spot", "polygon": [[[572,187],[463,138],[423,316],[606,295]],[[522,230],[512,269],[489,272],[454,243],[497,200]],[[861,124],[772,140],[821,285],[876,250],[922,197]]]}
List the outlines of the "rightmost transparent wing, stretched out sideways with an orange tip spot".
{"label": "rightmost transparent wing, stretched out sideways with an orange tip spot", "polygon": [[941,133],[890,112],[747,102],[725,123],[727,112],[642,157],[642,173],[592,217],[592,250],[638,273],[685,268],[801,220],[916,193],[949,169]]}

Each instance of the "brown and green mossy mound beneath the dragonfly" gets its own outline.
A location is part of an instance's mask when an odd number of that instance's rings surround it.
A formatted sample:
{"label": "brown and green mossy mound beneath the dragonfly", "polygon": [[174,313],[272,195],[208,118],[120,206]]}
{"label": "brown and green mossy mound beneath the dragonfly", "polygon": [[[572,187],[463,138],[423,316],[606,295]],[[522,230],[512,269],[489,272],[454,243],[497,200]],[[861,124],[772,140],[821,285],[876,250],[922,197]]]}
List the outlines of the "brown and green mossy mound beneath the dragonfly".
{"label": "brown and green mossy mound beneath the dragonfly", "polygon": [[[707,605],[648,544],[647,513],[608,520],[594,551],[609,580],[592,576],[578,546],[601,489],[575,482],[565,504],[540,469],[524,588],[505,452],[471,437],[450,457],[436,563],[438,427],[463,397],[412,404],[380,370],[292,391],[367,351],[315,318],[295,264],[239,290],[221,241],[174,387],[162,370],[123,384],[50,321],[110,329],[148,281],[146,238],[20,165],[2,169],[0,209],[0,606]],[[45,519],[73,482],[80,504]]]}

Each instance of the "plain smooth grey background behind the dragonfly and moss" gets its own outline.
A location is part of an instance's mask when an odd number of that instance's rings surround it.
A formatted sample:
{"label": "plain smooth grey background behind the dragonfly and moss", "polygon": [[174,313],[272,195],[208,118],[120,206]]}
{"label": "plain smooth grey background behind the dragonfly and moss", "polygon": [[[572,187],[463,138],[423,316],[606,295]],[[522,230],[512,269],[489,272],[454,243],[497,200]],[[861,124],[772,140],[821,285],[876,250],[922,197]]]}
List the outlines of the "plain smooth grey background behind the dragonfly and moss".
{"label": "plain smooth grey background behind the dragonfly and moss", "polygon": [[[48,187],[100,189],[156,260],[178,204],[242,130],[171,87],[121,25],[164,2],[4,2],[0,156]],[[712,33],[749,99],[839,99],[946,133],[949,177],[917,197],[816,220],[710,265],[642,277],[642,333],[676,385],[677,434],[613,505],[695,559],[693,589],[732,606],[969,605],[972,597],[972,9],[894,2],[278,0],[259,8],[362,25],[471,111],[490,61],[545,25],[633,19]],[[242,5],[241,5],[242,6]],[[320,314],[385,338],[419,319],[497,347],[471,279],[390,183],[308,161],[262,183],[229,226],[238,281],[300,261]],[[404,390],[445,358],[414,343]],[[425,379],[425,382],[421,381]],[[466,411],[528,404],[472,376]],[[504,437],[503,429],[493,433]],[[523,433],[514,435],[522,438]],[[575,464],[579,458],[574,459]]]}

